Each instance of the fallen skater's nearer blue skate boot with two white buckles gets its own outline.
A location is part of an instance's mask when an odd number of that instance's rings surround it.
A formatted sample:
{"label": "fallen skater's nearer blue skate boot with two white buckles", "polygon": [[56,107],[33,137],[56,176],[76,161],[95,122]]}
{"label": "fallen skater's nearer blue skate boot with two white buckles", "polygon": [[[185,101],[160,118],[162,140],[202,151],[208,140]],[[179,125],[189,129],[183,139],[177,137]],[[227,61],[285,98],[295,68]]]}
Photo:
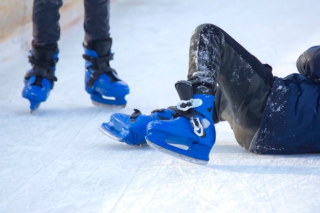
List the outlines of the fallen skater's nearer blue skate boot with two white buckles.
{"label": "fallen skater's nearer blue skate boot with two white buckles", "polygon": [[[215,143],[212,119],[215,97],[193,94],[189,81],[176,83],[181,110],[168,121],[152,121],[147,125],[146,141],[155,149],[197,164],[207,164]],[[196,92],[197,93],[197,92]]]}

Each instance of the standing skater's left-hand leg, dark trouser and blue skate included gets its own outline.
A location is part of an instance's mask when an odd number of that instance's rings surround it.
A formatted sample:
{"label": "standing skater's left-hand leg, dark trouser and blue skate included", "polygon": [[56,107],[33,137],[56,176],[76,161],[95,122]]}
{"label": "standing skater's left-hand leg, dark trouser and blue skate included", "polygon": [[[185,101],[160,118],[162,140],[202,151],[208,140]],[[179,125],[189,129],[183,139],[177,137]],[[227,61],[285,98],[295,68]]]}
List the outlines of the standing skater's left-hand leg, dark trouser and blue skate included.
{"label": "standing skater's left-hand leg, dark trouser and blue skate included", "polygon": [[33,41],[29,54],[32,68],[25,76],[22,97],[30,101],[31,111],[47,100],[53,88],[60,38],[59,9],[62,1],[35,0],[33,4]]}

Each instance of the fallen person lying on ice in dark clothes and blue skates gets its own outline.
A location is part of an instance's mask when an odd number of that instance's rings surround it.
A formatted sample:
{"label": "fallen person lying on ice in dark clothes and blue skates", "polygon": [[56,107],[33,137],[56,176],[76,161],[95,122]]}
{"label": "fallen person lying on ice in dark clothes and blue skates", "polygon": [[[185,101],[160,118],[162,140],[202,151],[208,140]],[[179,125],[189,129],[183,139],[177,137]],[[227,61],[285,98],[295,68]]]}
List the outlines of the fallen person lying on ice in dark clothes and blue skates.
{"label": "fallen person lying on ice in dark clothes and blue skates", "polygon": [[199,164],[208,163],[221,121],[253,153],[320,152],[320,46],[299,57],[300,74],[278,78],[222,29],[203,24],[192,34],[189,57],[188,81],[175,84],[176,107],[149,116],[116,113],[100,130]]}

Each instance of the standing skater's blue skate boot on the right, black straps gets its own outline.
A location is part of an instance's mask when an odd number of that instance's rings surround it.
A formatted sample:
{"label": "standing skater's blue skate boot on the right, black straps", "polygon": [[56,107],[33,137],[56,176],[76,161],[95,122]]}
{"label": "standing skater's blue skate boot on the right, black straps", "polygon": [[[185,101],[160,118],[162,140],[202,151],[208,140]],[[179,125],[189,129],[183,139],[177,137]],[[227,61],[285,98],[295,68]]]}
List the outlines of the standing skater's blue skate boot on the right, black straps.
{"label": "standing skater's blue skate boot on the right, black straps", "polygon": [[127,103],[124,97],[129,93],[129,86],[109,65],[113,59],[111,42],[111,38],[108,38],[95,40],[92,44],[83,43],[85,90],[95,105],[123,108]]}

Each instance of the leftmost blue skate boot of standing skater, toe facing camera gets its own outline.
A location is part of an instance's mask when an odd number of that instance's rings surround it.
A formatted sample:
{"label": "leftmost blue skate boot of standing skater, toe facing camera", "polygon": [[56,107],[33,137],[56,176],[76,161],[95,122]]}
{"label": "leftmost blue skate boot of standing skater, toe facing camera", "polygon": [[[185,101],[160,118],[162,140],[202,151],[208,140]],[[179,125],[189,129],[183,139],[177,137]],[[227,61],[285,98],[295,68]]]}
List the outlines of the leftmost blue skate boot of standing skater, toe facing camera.
{"label": "leftmost blue skate boot of standing skater, toe facing camera", "polygon": [[53,46],[54,48],[32,42],[28,57],[32,68],[25,75],[25,87],[22,90],[22,97],[30,101],[31,112],[47,100],[54,81],[57,81],[55,70],[59,50],[57,44]]}

